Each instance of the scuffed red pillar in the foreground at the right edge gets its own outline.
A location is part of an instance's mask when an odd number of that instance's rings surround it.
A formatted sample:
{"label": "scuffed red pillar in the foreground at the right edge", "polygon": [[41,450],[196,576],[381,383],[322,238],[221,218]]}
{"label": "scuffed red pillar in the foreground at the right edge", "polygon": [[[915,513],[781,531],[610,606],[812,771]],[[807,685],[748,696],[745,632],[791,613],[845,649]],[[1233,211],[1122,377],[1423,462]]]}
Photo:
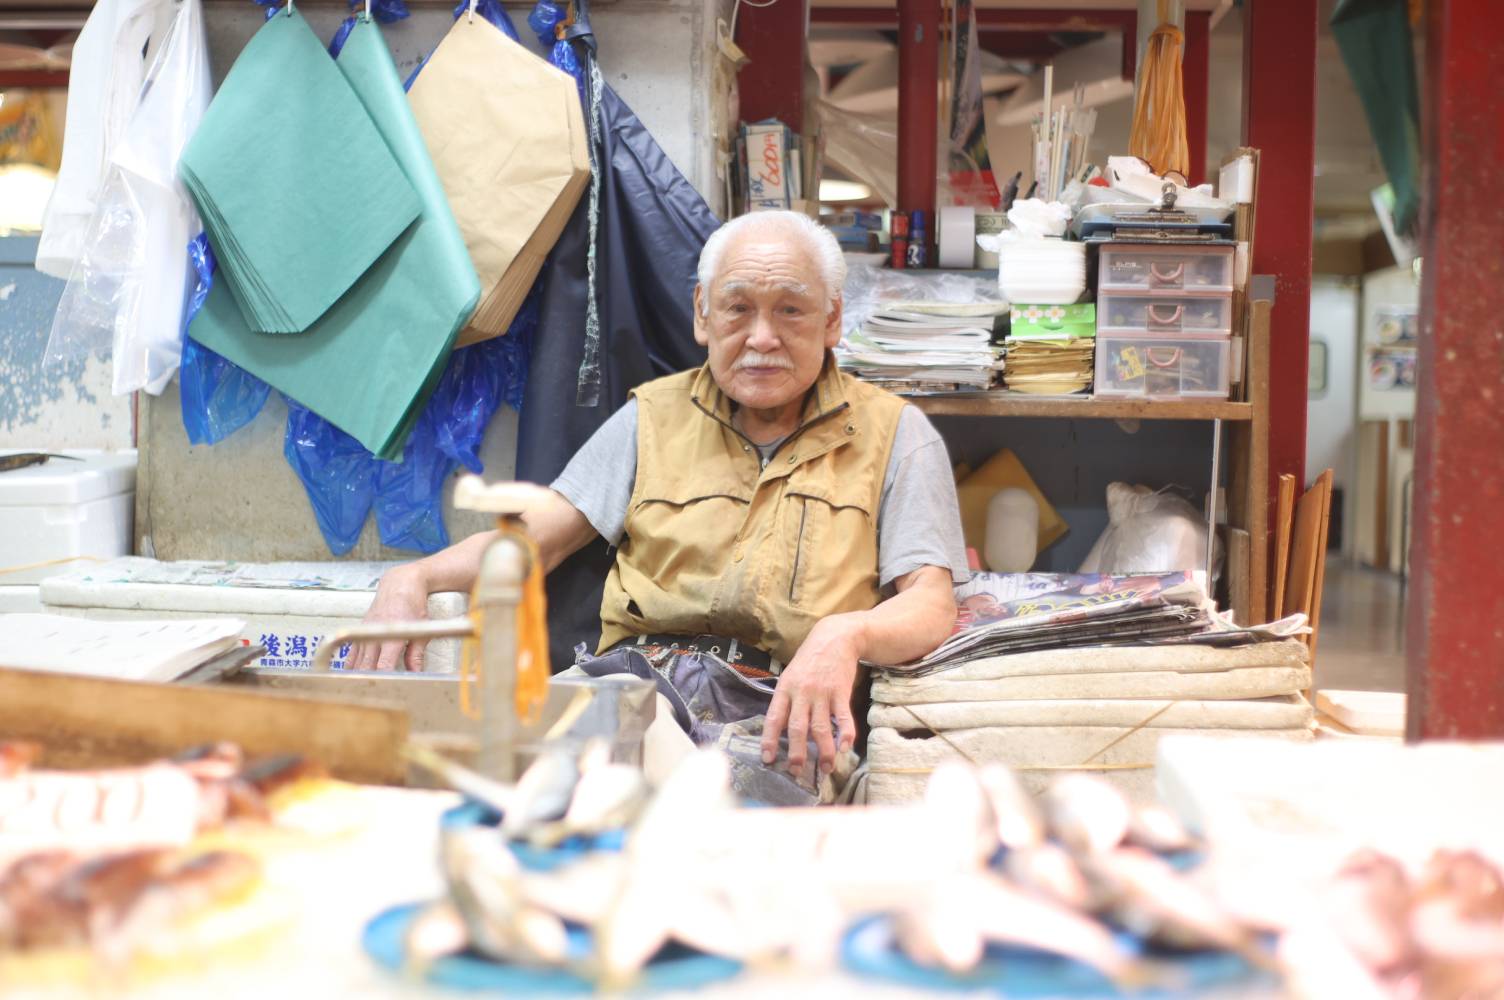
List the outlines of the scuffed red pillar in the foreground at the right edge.
{"label": "scuffed red pillar in the foreground at the right edge", "polygon": [[1409,719],[1417,738],[1504,737],[1504,20],[1430,0],[1421,128]]}

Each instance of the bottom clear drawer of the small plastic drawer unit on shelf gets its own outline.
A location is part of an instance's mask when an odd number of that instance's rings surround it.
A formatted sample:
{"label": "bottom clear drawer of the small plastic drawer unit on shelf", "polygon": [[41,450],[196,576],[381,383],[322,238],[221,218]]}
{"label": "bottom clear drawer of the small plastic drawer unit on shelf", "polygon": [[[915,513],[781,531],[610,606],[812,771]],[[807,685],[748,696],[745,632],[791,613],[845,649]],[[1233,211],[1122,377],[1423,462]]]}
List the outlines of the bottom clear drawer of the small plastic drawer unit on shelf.
{"label": "bottom clear drawer of the small plastic drawer unit on shelf", "polygon": [[1224,400],[1227,337],[1096,337],[1096,395]]}

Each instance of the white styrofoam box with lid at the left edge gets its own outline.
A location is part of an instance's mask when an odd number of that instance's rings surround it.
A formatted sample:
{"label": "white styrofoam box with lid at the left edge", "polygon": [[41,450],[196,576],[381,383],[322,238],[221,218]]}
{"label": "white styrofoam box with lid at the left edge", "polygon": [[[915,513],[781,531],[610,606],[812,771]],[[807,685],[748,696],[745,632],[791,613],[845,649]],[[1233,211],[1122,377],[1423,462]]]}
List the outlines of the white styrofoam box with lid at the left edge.
{"label": "white styrofoam box with lid at the left edge", "polygon": [[[15,451],[0,450],[0,456]],[[0,474],[0,583],[36,583],[78,565],[59,559],[113,559],[131,552],[135,451],[56,454],[69,459]],[[54,564],[6,571],[38,562]]]}

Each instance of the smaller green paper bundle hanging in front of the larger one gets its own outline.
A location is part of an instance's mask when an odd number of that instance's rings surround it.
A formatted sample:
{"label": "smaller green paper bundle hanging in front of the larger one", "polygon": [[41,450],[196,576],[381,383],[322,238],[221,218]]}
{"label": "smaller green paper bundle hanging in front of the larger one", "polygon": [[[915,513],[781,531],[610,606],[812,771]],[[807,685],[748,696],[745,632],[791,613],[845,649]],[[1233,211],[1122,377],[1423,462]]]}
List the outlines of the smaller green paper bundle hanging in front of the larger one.
{"label": "smaller green paper bundle hanging in front of the larger one", "polygon": [[370,113],[298,14],[278,12],[247,44],[179,174],[223,284],[247,325],[268,334],[308,329],[420,211]]}

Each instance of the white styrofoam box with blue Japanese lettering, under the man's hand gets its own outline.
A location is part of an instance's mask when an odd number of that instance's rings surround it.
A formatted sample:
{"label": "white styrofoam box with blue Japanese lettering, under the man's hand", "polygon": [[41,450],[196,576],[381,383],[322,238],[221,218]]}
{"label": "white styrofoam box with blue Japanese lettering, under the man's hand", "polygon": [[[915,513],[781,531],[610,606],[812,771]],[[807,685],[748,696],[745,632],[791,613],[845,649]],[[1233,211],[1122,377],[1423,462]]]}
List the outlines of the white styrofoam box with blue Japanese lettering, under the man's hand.
{"label": "white styrofoam box with blue Japanese lettering, under the man's hand", "polygon": [[[381,574],[396,562],[158,562],[126,556],[54,576],[41,586],[47,611],[101,621],[123,618],[203,618],[233,615],[245,621],[241,639],[265,645],[253,668],[313,666],[319,642],[359,624],[370,609]],[[432,594],[429,618],[457,618],[465,594]],[[435,639],[424,671],[450,674],[459,666],[459,639]],[[347,650],[334,657],[343,666]]]}

